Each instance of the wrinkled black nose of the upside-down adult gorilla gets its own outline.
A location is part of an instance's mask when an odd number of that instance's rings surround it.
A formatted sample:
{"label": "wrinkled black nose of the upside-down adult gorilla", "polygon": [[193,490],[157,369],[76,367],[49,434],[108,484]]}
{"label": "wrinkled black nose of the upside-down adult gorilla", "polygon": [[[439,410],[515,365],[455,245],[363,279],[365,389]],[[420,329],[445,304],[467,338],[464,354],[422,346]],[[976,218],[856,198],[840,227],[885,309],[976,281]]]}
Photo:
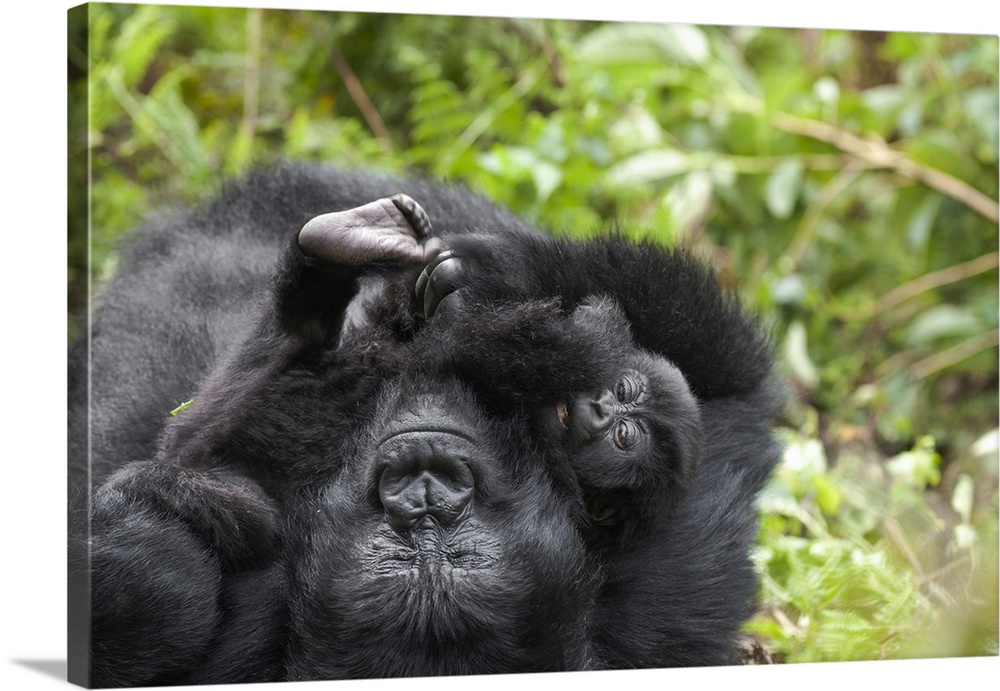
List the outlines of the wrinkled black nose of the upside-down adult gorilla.
{"label": "wrinkled black nose of the upside-down adult gorilla", "polygon": [[471,510],[471,442],[446,432],[407,432],[382,445],[379,497],[389,524],[406,533],[426,516],[450,527]]}

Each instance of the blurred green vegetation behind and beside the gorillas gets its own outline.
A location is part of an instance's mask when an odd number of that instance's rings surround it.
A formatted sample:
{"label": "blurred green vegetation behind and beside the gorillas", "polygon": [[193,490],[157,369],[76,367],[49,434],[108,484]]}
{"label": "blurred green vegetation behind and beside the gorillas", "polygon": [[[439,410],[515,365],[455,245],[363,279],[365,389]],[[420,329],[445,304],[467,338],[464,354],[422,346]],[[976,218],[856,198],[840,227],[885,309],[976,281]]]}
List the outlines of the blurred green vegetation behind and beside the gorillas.
{"label": "blurred green vegetation behind and beside the gorillas", "polygon": [[997,654],[997,37],[83,11],[71,313],[145,214],[279,157],[692,244],[792,391],[748,659]]}

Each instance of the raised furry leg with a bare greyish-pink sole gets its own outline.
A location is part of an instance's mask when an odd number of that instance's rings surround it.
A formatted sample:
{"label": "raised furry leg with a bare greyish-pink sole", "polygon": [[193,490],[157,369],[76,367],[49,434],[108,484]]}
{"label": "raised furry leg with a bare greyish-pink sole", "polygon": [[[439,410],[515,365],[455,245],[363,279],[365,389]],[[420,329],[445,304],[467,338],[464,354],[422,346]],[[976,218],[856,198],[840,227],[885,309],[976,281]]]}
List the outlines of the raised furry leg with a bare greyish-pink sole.
{"label": "raised furry leg with a bare greyish-pink sole", "polygon": [[319,400],[323,377],[301,375],[330,367],[363,276],[422,265],[434,252],[428,230],[423,210],[405,195],[307,222],[290,238],[246,336],[171,422],[160,456],[201,467],[249,461],[265,484],[272,471],[308,456],[297,439],[308,403],[331,413]]}

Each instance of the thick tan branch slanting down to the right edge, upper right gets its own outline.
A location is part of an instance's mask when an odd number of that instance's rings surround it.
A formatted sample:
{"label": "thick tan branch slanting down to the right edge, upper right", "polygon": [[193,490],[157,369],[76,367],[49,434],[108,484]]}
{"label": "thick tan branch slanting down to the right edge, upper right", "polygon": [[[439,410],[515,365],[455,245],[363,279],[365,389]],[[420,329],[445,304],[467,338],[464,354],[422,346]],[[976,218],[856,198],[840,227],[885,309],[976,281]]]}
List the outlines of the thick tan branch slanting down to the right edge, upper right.
{"label": "thick tan branch slanting down to the right edge, upper right", "polygon": [[775,113],[775,127],[833,144],[841,151],[860,158],[877,168],[891,168],[901,175],[919,180],[942,194],[956,199],[984,218],[1000,222],[1000,205],[971,185],[936,168],[924,166],[884,142],[862,139],[825,122],[806,120],[788,113]]}

